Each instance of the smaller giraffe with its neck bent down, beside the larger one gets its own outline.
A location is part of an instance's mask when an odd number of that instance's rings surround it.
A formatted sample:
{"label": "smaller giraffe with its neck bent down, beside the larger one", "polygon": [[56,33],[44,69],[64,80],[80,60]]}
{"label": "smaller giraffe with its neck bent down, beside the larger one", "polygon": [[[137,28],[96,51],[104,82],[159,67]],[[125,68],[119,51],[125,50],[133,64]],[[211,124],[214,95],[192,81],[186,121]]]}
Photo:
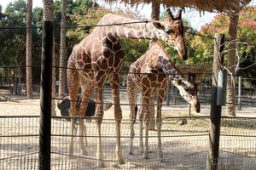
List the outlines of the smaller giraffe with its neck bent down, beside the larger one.
{"label": "smaller giraffe with its neck bent down, beside the larger one", "polygon": [[[131,64],[127,76],[127,93],[130,104],[130,120],[131,120],[131,140],[129,153],[133,154],[132,140],[134,133],[134,122],[136,119],[135,107],[137,105],[137,91],[140,92],[142,111],[139,115],[139,146],[143,151],[143,157],[148,159],[148,125],[149,114],[154,110],[154,95],[157,96],[157,136],[158,150],[157,156],[162,161],[163,154],[161,149],[160,127],[161,127],[161,106],[164,100],[168,78],[178,88],[179,93],[189,102],[196,112],[200,112],[200,103],[197,96],[197,87],[199,82],[195,80],[187,81],[183,75],[177,71],[175,65],[169,59],[165,49],[160,42],[154,42],[148,51],[139,59]],[[193,82],[193,83],[192,83]],[[154,114],[154,113],[153,113]],[[143,149],[143,121],[145,122],[145,148]]]}

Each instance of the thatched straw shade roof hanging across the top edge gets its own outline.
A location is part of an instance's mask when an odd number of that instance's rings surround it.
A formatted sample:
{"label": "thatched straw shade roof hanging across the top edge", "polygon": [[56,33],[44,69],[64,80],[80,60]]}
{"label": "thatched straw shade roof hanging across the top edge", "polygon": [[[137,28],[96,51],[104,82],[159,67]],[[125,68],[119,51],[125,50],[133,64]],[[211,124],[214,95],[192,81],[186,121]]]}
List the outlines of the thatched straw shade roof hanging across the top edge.
{"label": "thatched straw shade roof hanging across the top edge", "polygon": [[[252,0],[154,0],[166,7],[195,8],[199,11],[236,13]],[[152,3],[149,0],[105,0],[107,3],[121,2],[138,5]]]}

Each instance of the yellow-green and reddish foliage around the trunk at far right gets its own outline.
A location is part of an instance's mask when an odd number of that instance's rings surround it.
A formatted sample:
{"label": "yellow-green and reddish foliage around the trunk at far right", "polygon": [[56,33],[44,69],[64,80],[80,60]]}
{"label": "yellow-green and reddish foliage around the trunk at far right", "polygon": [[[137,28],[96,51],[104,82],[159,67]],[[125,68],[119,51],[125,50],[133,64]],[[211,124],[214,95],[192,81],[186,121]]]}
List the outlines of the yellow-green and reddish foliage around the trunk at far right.
{"label": "yellow-green and reddish foliage around the trunk at far right", "polygon": [[[255,46],[249,46],[240,42],[248,42],[256,44],[256,8],[246,8],[239,14],[238,24],[238,54],[241,56],[241,68],[255,63]],[[215,33],[222,33],[228,36],[228,29],[230,25],[230,17],[224,14],[218,14],[211,23],[201,27],[198,33],[206,37],[213,37]],[[191,47],[195,49],[195,58],[201,63],[212,63],[213,55],[213,40],[206,37],[197,37],[190,42]],[[226,48],[227,49],[227,48]],[[248,50],[250,49],[250,50]],[[227,49],[228,50],[228,49]],[[247,58],[246,58],[247,56]],[[238,74],[244,77],[255,77],[256,66],[247,69],[241,69]]]}

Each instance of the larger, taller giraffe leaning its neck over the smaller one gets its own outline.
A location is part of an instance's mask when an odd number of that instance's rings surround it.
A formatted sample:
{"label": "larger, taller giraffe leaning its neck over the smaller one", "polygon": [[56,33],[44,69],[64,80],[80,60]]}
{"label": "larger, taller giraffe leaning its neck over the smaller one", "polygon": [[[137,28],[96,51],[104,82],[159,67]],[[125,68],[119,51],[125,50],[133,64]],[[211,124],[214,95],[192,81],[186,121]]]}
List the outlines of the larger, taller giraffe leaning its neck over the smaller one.
{"label": "larger, taller giraffe leaning its neck over the smaller one", "polygon": [[[108,78],[112,88],[114,119],[116,123],[116,159],[120,164],[125,163],[120,146],[120,123],[122,112],[119,105],[119,71],[125,53],[120,45],[120,38],[137,39],[159,39],[168,45],[177,48],[177,52],[182,59],[187,59],[187,49],[183,39],[183,22],[181,18],[182,10],[179,9],[177,15],[173,17],[171,10],[166,9],[166,21],[140,21],[126,18],[117,14],[105,14],[99,21],[98,26],[79,44],[73,47],[73,52],[67,61],[67,80],[71,100],[69,110],[70,116],[84,116],[87,102],[93,90],[96,92],[96,165],[104,167],[102,154],[101,124],[103,117],[102,94],[103,84]],[[126,23],[126,24],[119,24]],[[129,23],[129,24],[127,24]],[[105,25],[105,26],[102,26]],[[113,26],[114,25],[114,26]],[[75,99],[82,92],[80,110],[75,107]],[[71,141],[69,153],[73,155],[73,135],[74,119],[71,122]],[[79,119],[79,135],[83,136],[84,120]],[[84,139],[79,138],[82,154],[86,154]]]}

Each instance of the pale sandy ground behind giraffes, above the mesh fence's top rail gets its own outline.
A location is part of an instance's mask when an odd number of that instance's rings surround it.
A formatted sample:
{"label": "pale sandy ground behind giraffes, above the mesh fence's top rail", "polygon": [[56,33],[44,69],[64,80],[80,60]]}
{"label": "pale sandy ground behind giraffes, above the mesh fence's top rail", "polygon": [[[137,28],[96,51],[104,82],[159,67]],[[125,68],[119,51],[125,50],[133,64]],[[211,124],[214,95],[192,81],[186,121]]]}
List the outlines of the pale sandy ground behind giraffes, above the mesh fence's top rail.
{"label": "pale sandy ground behind giraffes, above the mesh fence's top rail", "polygon": [[[1,101],[0,107],[3,108],[0,111],[0,116],[39,116],[40,114],[40,99],[26,99],[26,95],[9,95],[6,90],[0,90],[0,96],[8,96],[10,101]],[[35,95],[35,98],[39,98],[39,95]],[[123,119],[129,119],[129,105],[127,95],[121,94],[120,103],[121,105]],[[112,101],[111,98],[106,97],[104,102]],[[58,100],[55,100],[55,104]],[[17,110],[17,108],[19,108]],[[61,112],[55,105],[55,111],[57,116],[61,116]],[[189,113],[189,105],[163,105],[162,107],[163,115],[170,116],[187,116]],[[201,112],[196,113],[191,109],[191,114],[193,116],[209,116],[210,115],[210,105],[201,104]],[[222,106],[222,116],[226,116],[225,106]],[[236,109],[236,116],[238,117],[256,117],[256,105],[254,107],[242,106],[241,111]],[[105,111],[104,118],[113,118],[113,107],[110,110]]]}

